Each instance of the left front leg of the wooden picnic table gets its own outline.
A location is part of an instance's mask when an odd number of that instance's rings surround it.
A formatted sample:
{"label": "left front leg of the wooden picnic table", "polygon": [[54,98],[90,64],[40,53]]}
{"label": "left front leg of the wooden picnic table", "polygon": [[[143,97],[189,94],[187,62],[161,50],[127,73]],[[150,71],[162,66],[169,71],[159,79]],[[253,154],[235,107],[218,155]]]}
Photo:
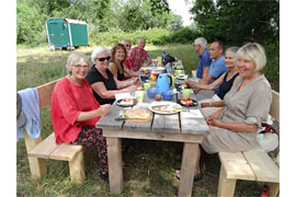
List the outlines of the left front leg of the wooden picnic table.
{"label": "left front leg of the wooden picnic table", "polygon": [[123,190],[122,139],[106,138],[110,190],[119,195]]}

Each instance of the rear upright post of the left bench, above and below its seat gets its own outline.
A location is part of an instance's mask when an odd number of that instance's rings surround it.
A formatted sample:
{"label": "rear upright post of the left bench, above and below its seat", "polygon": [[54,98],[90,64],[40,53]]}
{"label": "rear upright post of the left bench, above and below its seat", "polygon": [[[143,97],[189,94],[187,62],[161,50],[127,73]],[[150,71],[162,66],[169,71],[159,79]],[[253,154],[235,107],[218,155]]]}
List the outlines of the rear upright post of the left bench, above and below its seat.
{"label": "rear upright post of the left bench, above and below its seat", "polygon": [[[31,138],[26,134],[25,129],[23,129],[23,134],[25,137],[26,152],[34,149],[42,141],[42,137],[38,137],[36,139]],[[34,158],[34,157],[27,157],[27,159],[29,159],[31,175],[33,178],[38,179],[43,177],[44,175],[46,175],[46,163],[44,159]]]}

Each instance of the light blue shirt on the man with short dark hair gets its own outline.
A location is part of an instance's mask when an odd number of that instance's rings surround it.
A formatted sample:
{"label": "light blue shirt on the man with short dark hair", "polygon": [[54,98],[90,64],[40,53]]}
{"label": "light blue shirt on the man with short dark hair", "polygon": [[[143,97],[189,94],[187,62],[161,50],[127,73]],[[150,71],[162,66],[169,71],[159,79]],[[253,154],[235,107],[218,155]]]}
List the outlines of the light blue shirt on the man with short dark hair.
{"label": "light blue shirt on the man with short dark hair", "polygon": [[[225,66],[225,57],[221,56],[218,60],[213,59],[212,63],[209,66],[208,76],[214,77],[213,80],[210,80],[210,83],[213,83],[216,79],[218,79],[224,72],[226,72],[228,68]],[[215,89],[214,91],[217,93],[218,88]]]}

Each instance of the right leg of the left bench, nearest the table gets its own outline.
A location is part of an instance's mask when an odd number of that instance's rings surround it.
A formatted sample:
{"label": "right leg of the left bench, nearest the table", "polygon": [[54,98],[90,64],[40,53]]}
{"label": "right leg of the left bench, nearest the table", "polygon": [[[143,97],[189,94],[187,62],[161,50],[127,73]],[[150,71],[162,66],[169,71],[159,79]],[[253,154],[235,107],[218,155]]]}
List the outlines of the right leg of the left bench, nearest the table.
{"label": "right leg of the left bench, nearest the table", "polygon": [[69,161],[70,177],[73,184],[80,185],[86,178],[83,151]]}

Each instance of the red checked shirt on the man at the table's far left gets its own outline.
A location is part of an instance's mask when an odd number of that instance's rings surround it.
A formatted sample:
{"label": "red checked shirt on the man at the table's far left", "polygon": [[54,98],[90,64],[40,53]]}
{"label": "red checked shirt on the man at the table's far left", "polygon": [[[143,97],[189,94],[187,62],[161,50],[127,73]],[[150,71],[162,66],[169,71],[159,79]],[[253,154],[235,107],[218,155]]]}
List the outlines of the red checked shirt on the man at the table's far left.
{"label": "red checked shirt on the man at the table's far left", "polygon": [[138,71],[145,59],[149,58],[149,55],[146,50],[140,49],[138,46],[136,46],[130,49],[128,57],[132,62],[133,70]]}

